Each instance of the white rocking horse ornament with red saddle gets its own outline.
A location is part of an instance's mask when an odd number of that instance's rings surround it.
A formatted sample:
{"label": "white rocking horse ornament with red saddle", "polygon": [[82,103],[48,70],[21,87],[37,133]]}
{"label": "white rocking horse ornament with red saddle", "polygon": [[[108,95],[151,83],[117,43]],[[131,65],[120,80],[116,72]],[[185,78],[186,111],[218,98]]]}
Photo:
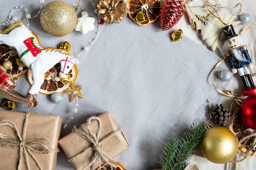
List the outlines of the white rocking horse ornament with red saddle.
{"label": "white rocking horse ornament with red saddle", "polygon": [[[18,27],[17,27],[18,25]],[[14,27],[14,28],[13,28]],[[8,30],[9,29],[9,30]],[[40,86],[44,82],[44,74],[56,63],[61,64],[60,77],[65,78],[73,64],[79,63],[74,56],[61,49],[44,50],[34,38],[31,31],[24,24],[16,23],[5,31],[0,31],[0,44],[12,46],[17,50],[21,62],[31,69],[33,84],[26,99],[38,105],[36,100]]]}

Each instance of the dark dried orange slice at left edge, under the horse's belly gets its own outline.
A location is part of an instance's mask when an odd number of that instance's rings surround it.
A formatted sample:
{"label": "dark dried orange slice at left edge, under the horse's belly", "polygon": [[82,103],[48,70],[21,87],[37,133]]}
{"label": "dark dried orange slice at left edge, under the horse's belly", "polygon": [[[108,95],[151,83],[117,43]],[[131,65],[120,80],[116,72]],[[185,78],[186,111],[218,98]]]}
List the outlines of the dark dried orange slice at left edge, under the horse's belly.
{"label": "dark dried orange slice at left edge, under the horse's belly", "polygon": [[0,45],[0,65],[3,64],[4,60],[7,59],[11,62],[11,69],[7,69],[6,72],[13,75],[13,77],[21,77],[22,75],[25,75],[27,72],[27,67],[23,67],[22,71],[18,70],[18,64],[16,63],[16,59],[18,59],[19,56],[17,54],[16,49],[13,49],[12,47],[9,47],[5,44]]}

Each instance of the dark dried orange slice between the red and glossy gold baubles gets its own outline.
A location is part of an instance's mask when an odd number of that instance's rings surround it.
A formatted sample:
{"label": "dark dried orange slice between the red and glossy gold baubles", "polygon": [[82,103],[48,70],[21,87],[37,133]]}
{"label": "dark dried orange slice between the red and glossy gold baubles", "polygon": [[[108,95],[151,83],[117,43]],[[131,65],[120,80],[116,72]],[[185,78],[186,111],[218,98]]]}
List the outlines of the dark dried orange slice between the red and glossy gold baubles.
{"label": "dark dried orange slice between the red and glossy gold baubles", "polygon": [[[256,156],[256,139],[254,137],[249,137],[249,135],[253,134],[253,130],[248,128],[240,119],[239,114],[233,115],[234,119],[229,126],[229,130],[236,135],[238,139],[238,148],[249,155]],[[245,140],[241,141],[241,139],[247,137]]]}

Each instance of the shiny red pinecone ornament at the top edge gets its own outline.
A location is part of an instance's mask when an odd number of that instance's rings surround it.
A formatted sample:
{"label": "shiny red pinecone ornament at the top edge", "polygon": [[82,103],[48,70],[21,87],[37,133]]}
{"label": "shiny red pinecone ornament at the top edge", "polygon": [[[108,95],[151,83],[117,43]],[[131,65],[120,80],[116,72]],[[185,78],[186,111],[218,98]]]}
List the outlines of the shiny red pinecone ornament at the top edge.
{"label": "shiny red pinecone ornament at the top edge", "polygon": [[163,31],[170,29],[180,21],[185,11],[183,0],[164,0],[160,10],[160,26]]}

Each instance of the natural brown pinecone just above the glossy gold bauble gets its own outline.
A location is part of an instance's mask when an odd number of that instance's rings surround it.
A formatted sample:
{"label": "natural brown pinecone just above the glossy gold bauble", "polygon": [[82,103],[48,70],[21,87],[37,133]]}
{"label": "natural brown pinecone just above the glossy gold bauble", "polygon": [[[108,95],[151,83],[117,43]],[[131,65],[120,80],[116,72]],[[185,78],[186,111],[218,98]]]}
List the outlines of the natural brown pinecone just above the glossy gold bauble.
{"label": "natural brown pinecone just above the glossy gold bauble", "polygon": [[210,119],[213,119],[217,126],[222,126],[227,128],[232,123],[231,112],[229,109],[225,108],[223,104],[216,104],[210,113]]}

